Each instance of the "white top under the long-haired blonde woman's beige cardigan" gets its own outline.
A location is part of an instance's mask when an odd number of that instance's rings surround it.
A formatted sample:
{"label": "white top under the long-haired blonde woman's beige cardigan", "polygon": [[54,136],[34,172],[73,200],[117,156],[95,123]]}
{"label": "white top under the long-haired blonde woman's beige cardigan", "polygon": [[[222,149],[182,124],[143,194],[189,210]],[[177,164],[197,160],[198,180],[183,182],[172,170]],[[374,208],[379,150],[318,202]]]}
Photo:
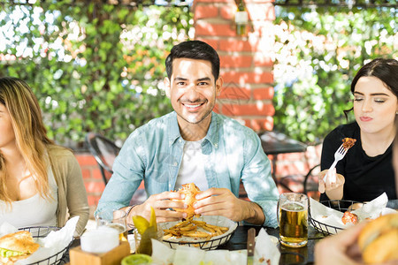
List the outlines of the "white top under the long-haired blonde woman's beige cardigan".
{"label": "white top under the long-haired blonde woman's beige cardigan", "polygon": [[29,226],[57,226],[58,187],[54,174],[48,165],[50,199],[43,199],[39,193],[22,200],[11,202],[12,208],[0,200],[0,225],[11,223],[16,228]]}

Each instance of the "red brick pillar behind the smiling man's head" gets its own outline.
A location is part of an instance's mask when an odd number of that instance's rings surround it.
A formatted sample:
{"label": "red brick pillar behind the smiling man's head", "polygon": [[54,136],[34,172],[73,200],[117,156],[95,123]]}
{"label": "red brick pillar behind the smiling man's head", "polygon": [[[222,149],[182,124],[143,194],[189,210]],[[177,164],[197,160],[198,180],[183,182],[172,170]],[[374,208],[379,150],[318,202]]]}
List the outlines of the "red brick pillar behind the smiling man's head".
{"label": "red brick pillar behind the smiling man's head", "polygon": [[255,131],[272,130],[271,49],[275,12],[270,0],[246,0],[248,34],[235,34],[234,0],[195,0],[195,39],[218,51],[224,87],[215,111]]}

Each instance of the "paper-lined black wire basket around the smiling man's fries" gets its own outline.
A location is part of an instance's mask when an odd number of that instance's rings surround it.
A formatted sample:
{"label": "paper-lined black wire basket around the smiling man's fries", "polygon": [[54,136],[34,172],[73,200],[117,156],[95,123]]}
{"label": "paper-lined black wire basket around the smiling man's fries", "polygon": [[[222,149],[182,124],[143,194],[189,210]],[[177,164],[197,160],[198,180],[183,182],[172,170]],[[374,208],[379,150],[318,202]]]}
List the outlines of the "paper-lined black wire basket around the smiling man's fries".
{"label": "paper-lined black wire basket around the smiling man's fries", "polygon": [[[229,239],[231,239],[233,231],[235,231],[238,223],[233,222],[232,220],[224,217],[224,216],[201,216],[195,217],[194,220],[204,221],[209,224],[225,226],[228,227],[228,231],[224,234],[219,235],[217,237],[213,237],[209,240],[203,239],[195,239],[190,237],[181,237],[179,239],[172,237],[170,239],[164,239],[163,243],[167,246],[172,247],[173,249],[177,248],[177,246],[185,245],[185,246],[195,246],[200,247],[202,249],[215,249],[220,245],[226,244]],[[162,229],[169,229],[179,222],[167,222],[167,223],[158,223],[158,226]],[[198,228],[199,231],[204,231],[201,228]]]}

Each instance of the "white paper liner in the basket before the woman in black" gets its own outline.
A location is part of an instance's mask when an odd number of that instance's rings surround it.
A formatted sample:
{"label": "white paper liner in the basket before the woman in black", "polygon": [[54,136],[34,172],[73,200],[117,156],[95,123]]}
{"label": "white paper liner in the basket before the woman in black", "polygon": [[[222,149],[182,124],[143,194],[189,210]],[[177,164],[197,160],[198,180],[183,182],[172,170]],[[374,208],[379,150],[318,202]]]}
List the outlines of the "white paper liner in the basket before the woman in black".
{"label": "white paper liner in the basket before the woman in black", "polygon": [[[387,194],[383,193],[376,199],[369,201],[364,204],[362,208],[351,211],[358,216],[358,220],[361,222],[367,218],[375,219],[380,215],[387,214],[391,212],[390,208],[386,208],[387,205]],[[346,229],[353,223],[342,223],[341,217],[344,213],[335,210],[333,208],[326,207],[322,203],[315,201],[310,198],[310,214],[311,218],[317,220],[319,223],[324,223],[326,225],[335,226],[341,229]],[[322,225],[322,229],[325,229],[325,225]],[[328,231],[334,233],[334,229],[329,229]]]}

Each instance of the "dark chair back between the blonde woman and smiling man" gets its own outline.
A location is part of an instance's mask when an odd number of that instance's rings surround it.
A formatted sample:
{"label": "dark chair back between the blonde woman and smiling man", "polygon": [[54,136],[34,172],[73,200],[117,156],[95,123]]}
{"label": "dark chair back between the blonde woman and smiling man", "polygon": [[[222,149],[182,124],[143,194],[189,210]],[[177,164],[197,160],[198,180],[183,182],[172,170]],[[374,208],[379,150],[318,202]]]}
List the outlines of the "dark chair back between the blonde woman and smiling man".
{"label": "dark chair back between the blonde woman and smiling man", "polygon": [[120,148],[98,133],[88,133],[86,142],[90,153],[96,158],[103,176],[103,182],[106,185],[109,179],[106,177],[105,170],[113,174],[112,165],[119,154]]}

